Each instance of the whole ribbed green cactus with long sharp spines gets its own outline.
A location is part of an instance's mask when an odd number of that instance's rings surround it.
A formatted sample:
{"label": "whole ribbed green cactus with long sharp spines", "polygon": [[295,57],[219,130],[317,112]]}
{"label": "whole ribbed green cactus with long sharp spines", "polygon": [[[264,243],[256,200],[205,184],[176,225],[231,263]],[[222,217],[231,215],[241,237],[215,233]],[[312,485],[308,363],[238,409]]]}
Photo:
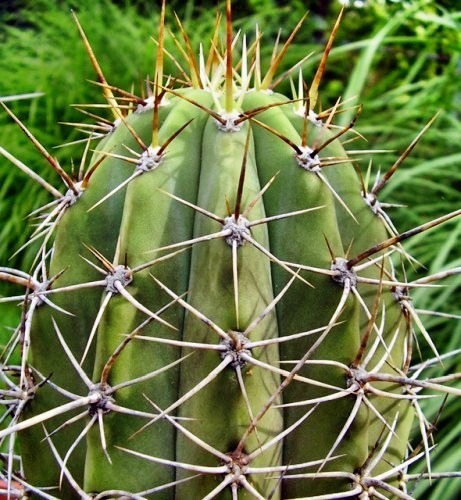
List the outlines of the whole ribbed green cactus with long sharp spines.
{"label": "whole ribbed green cactus with long sharp spines", "polygon": [[[290,97],[275,73],[301,23],[262,74],[260,34],[233,34],[228,0],[224,49],[217,23],[196,60],[179,24],[189,70],[166,78],[163,2],[137,97],[76,18],[114,121],[89,127],[75,175],[3,105],[65,185],[0,149],[54,197],[33,270],[0,268],[25,288],[2,361],[9,498],[406,499],[442,475],[419,402],[461,391],[430,378],[445,355],[410,292],[460,269],[408,282],[402,243],[461,210],[400,233],[378,201],[432,121],[369,188],[344,144],[360,108],[344,128],[344,103],[319,111],[340,18]],[[433,358],[413,360],[415,336]],[[417,460],[427,474],[408,473]]]}

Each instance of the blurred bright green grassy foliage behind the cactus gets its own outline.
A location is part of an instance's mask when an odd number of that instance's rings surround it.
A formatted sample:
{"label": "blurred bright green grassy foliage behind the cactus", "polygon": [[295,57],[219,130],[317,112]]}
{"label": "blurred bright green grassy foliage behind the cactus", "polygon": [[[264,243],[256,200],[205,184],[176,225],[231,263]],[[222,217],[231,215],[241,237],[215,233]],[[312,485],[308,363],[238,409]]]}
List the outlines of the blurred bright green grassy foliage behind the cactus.
{"label": "blurred bright green grassy foliage behind the cactus", "polygon": [[[353,2],[350,2],[353,3]],[[81,144],[53,149],[82,137],[75,128],[59,122],[88,122],[74,103],[102,103],[100,88],[87,82],[95,78],[91,64],[70,15],[75,9],[108,81],[118,87],[143,92],[146,77],[153,74],[160,2],[111,2],[109,0],[16,0],[0,5],[0,99],[29,92],[42,97],[12,100],[9,107],[31,132],[70,170],[83,149]],[[193,46],[209,38],[216,2],[168,2],[168,19],[177,32],[172,12],[178,13]],[[198,6],[200,5],[200,6]],[[306,54],[314,55],[304,65],[307,81],[312,78],[329,28],[340,5],[334,1],[249,0],[235,2],[236,28],[253,32],[258,24],[264,34],[269,60],[273,41],[281,26],[281,39],[309,8],[304,28],[297,36],[284,62],[287,70]],[[177,53],[169,41],[168,49]],[[174,72],[174,68],[166,72]],[[392,149],[374,155],[373,167],[386,171],[421,128],[440,112],[433,127],[386,188],[381,201],[405,205],[393,209],[391,216],[404,231],[431,218],[459,208],[461,190],[461,6],[455,0],[384,1],[371,0],[363,8],[349,7],[335,42],[322,82],[322,105],[328,107],[340,95],[355,97],[364,106],[357,130],[368,140],[351,146],[361,149]],[[283,83],[281,91],[288,92]],[[105,110],[97,110],[109,118]],[[352,112],[352,111],[351,111]],[[343,123],[351,118],[344,113]],[[56,178],[39,153],[21,134],[5,112],[0,112],[0,145],[30,168],[54,182]],[[363,159],[366,169],[368,159]],[[27,269],[33,247],[8,260],[30,234],[27,214],[48,200],[46,193],[0,157],[0,262]],[[461,266],[459,241],[461,220],[433,231],[427,238],[416,237],[406,248],[427,269],[415,268],[414,276]],[[419,273],[419,274],[418,274]],[[448,281],[448,280],[447,280]],[[461,316],[461,279],[453,277],[450,291],[425,289],[414,293],[420,309],[437,310]],[[12,293],[0,283],[0,296]],[[1,304],[0,343],[20,317],[20,309]],[[427,329],[440,350],[461,347],[461,321],[450,322],[427,316]],[[430,355],[430,354],[428,354]],[[461,371],[446,361],[440,372]],[[441,401],[427,402],[428,415],[436,415]],[[434,470],[460,470],[461,433],[459,401],[448,401],[436,433]],[[417,485],[418,498],[458,498],[458,481],[441,481],[425,490]],[[443,495],[442,490],[443,489]]]}

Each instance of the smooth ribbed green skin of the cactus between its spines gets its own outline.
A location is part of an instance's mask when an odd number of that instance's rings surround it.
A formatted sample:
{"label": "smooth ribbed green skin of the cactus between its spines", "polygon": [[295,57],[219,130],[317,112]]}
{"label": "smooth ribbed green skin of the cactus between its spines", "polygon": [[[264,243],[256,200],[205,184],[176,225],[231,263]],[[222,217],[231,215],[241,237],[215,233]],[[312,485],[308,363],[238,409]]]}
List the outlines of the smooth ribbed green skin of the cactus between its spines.
{"label": "smooth ribbed green skin of the cactus between its spines", "polygon": [[[321,401],[322,397],[335,391],[346,390],[348,380],[345,370],[332,362],[349,366],[354,361],[371,313],[380,318],[377,324],[380,325],[381,344],[390,345],[390,339],[397,334],[389,359],[394,366],[402,368],[407,332],[401,321],[400,307],[390,292],[383,294],[381,305],[374,311],[379,286],[358,284],[368,314],[353,293],[338,309],[344,288],[328,275],[332,258],[356,256],[385,240],[388,237],[386,229],[363,201],[360,183],[351,163],[322,169],[322,176],[325,175],[331,185],[329,187],[315,172],[301,168],[293,148],[268,130],[272,128],[292,143],[301,144],[304,121],[292,111],[292,103],[287,101],[283,106],[259,113],[256,120],[245,121],[237,131],[223,131],[214,118],[194,104],[213,108],[213,99],[208,91],[190,90],[184,91],[183,95],[187,100],[174,96],[161,110],[160,143],[168,140],[189,120],[192,121],[166,148],[160,165],[154,171],[139,175],[126,188],[89,210],[133,172],[131,163],[114,155],[135,157],[133,151],[141,152],[133,133],[123,123],[104,140],[95,158],[101,154],[107,157],[91,178],[86,191],[59,223],[51,265],[51,274],[65,270],[55,285],[61,287],[104,279],[85,260],[103,267],[89,247],[113,265],[126,264],[131,269],[159,256],[183,250],[135,272],[133,281],[126,286],[126,291],[152,313],[172,302],[162,312],[161,318],[174,329],[155,319],[143,325],[149,317],[146,312],[137,310],[121,294],[114,294],[104,309],[83,363],[87,376],[93,383],[99,383],[107,360],[123,339],[138,327],[141,327],[139,335],[144,337],[199,343],[200,347],[193,347],[192,344],[181,346],[176,342],[178,345],[169,345],[134,338],[115,359],[107,380],[109,386],[116,386],[187,356],[163,373],[111,394],[116,405],[138,412],[158,414],[159,409],[173,407],[169,414],[179,417],[178,425],[173,425],[166,418],[152,421],[129,414],[129,411],[120,413],[112,410],[102,417],[110,461],[102,450],[100,428],[95,421],[68,457],[67,467],[86,492],[123,490],[142,495],[142,492],[152,488],[196,475],[177,486],[147,496],[202,498],[223,484],[225,474],[205,474],[193,467],[187,470],[184,464],[220,467],[219,453],[229,455],[238,450],[240,457],[254,454],[256,458],[250,462],[250,467],[279,467],[278,471],[243,474],[262,498],[271,495],[271,498],[293,498],[347,491],[350,483],[346,479],[287,479],[281,482],[280,476],[284,473],[280,467],[321,460],[329,454],[336,458],[325,463],[322,471],[353,473],[375,446],[382,433],[383,422],[362,404],[341,442],[333,450],[332,446],[353,410],[356,396],[320,402],[317,406],[312,403],[290,408],[277,406],[282,402],[316,398]],[[249,113],[284,100],[277,94],[252,91],[245,97],[242,111]],[[149,144],[152,112],[135,112],[127,122],[135,134]],[[331,133],[317,125],[309,124],[307,127],[310,143],[315,141],[315,136],[322,143]],[[320,156],[344,159],[346,153],[336,140]],[[268,217],[288,215],[307,208],[315,210],[251,227],[249,238],[257,243],[245,241],[241,246],[236,245],[236,260],[233,261],[232,244],[227,243],[223,236],[197,242],[194,239],[219,233],[223,230],[219,219],[226,218],[228,210],[231,215],[234,213],[242,163],[245,164],[245,178],[239,209],[250,225],[252,221]],[[261,189],[274,176],[272,184],[259,199]],[[352,215],[335,198],[332,188]],[[200,207],[214,217],[194,207]],[[248,212],[245,212],[247,209]],[[181,242],[186,243],[181,245]],[[155,251],[168,245],[175,246]],[[296,264],[320,268],[326,273],[301,270],[294,277],[298,271]],[[385,266],[387,270],[384,274],[391,269],[388,264]],[[383,275],[381,263],[370,265],[361,275],[379,279]],[[276,307],[265,311],[290,279],[293,282],[277,299]],[[34,316],[34,368],[45,376],[51,374],[53,383],[79,396],[86,395],[88,387],[67,359],[51,318],[55,319],[66,343],[80,361],[106,295],[107,291],[101,286],[60,293],[56,295],[55,303],[74,316],[50,311],[48,307],[42,307]],[[183,301],[190,307],[187,308]],[[264,319],[247,331],[263,313]],[[324,330],[319,330],[321,328]],[[325,338],[307,356],[305,366],[298,372],[298,376],[304,378],[293,380],[283,391],[278,390],[287,372],[309,352],[325,328]],[[219,332],[224,332],[224,336],[231,332],[230,338],[236,338],[236,332],[245,332],[248,341],[256,342],[313,329],[317,329],[316,333],[256,347],[247,353],[259,366],[251,362],[237,362],[238,368],[230,362],[226,367],[222,365],[220,373],[205,387],[175,405],[179,398],[194,387],[199,388],[198,384],[224,363],[226,353],[220,355],[216,349],[221,340]],[[376,331],[372,329],[367,348],[373,345],[375,339]],[[206,349],[204,344],[212,347]],[[381,359],[383,353],[384,347],[380,345],[371,365]],[[272,366],[273,370],[260,366],[262,363]],[[383,370],[391,372],[392,368],[385,366]],[[324,386],[317,387],[308,379],[319,381]],[[390,425],[395,409],[386,409],[389,400],[380,402],[374,397],[371,400]],[[66,401],[65,397],[58,396],[50,388],[39,390],[26,416]],[[270,405],[267,404],[269,401]],[[258,417],[256,430],[240,443],[251,420],[263,409],[265,413],[263,417]],[[310,410],[313,410],[312,414],[301,425],[274,446],[264,449],[265,443]],[[85,409],[79,411],[84,412]],[[65,414],[46,422],[47,430],[51,431],[68,419],[69,414]],[[149,421],[150,425],[137,433]],[[61,457],[66,455],[87,424],[88,417],[79,422],[53,436]],[[187,432],[178,430],[179,426],[219,453],[205,450],[198,442],[193,442]],[[402,459],[407,432],[402,431],[399,439],[396,438],[399,448],[396,456],[382,459],[383,469],[389,468],[388,460],[395,462]],[[46,442],[39,444],[43,437],[42,429],[35,427],[21,436],[27,478],[41,486],[58,484],[60,467],[51,453],[45,451]],[[43,457],[39,461],[34,459],[34,451],[29,453],[38,446]],[[259,448],[261,453],[257,452]],[[147,460],[133,456],[125,449],[153,458]],[[163,463],[157,463],[156,459]],[[175,464],[168,465],[165,461],[174,461]],[[318,468],[319,464],[299,471],[315,472]],[[66,482],[64,478],[63,484]],[[224,486],[223,491],[216,494],[219,498],[232,498],[231,489]],[[61,493],[63,497],[73,496],[69,490],[64,491]],[[238,493],[238,498],[254,497],[248,488],[240,488]]]}

